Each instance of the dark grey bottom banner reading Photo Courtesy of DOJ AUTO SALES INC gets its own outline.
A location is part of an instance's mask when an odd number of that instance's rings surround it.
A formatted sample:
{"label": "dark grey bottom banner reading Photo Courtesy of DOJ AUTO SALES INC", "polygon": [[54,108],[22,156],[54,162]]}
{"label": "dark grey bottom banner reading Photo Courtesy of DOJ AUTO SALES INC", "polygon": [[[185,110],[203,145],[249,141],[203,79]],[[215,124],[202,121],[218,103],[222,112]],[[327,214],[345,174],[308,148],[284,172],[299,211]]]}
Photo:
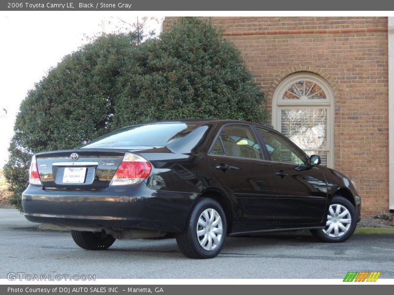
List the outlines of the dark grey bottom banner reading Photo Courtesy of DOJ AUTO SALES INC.
{"label": "dark grey bottom banner reading Photo Courtesy of DOJ AUTO SALES INC", "polygon": [[2,295],[391,294],[390,285],[2,285]]}

